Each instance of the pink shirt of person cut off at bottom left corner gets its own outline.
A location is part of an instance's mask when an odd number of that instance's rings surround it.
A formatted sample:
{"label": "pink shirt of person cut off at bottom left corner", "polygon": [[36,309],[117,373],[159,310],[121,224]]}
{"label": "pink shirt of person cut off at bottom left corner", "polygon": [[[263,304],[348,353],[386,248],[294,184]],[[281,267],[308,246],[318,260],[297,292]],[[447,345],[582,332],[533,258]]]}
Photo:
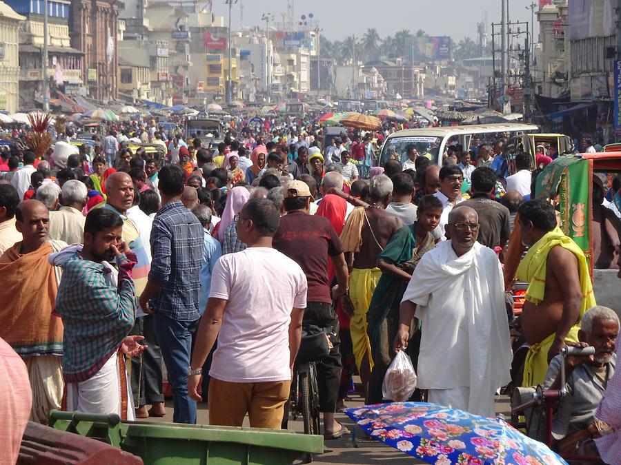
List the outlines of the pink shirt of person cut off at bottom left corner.
{"label": "pink shirt of person cut off at bottom left corner", "polygon": [[0,412],[2,412],[0,462],[14,464],[17,462],[21,437],[30,417],[32,392],[26,364],[2,338],[0,338],[0,386],[3,386],[3,389],[0,389]]}

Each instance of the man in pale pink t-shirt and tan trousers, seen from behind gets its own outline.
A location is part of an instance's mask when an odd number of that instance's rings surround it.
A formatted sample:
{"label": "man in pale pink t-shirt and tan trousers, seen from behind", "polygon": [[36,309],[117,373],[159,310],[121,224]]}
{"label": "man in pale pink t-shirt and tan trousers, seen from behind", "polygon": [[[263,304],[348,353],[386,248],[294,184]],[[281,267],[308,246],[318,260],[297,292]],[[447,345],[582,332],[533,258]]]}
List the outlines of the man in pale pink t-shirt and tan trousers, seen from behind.
{"label": "man in pale pink t-shirt and tan trousers, seen from behind", "polygon": [[188,394],[197,391],[216,338],[209,375],[209,424],[281,426],[293,362],[302,338],[306,276],[272,247],[280,213],[271,200],[249,200],[237,218],[237,237],[248,247],[221,256],[211,278],[207,309],[188,369]]}

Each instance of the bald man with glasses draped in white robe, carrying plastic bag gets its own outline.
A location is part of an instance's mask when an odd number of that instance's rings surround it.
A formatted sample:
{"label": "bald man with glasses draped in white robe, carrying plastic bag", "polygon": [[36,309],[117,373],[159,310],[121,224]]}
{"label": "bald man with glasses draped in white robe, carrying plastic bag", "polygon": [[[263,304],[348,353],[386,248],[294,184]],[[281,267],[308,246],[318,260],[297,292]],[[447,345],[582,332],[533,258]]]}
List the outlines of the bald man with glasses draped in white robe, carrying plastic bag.
{"label": "bald man with glasses draped in white robe, carrying plastic bag", "polygon": [[451,240],[428,251],[404,293],[393,344],[405,349],[414,315],[422,323],[418,388],[428,402],[495,416],[494,393],[511,380],[511,342],[500,262],[477,240],[478,216],[455,207]]}

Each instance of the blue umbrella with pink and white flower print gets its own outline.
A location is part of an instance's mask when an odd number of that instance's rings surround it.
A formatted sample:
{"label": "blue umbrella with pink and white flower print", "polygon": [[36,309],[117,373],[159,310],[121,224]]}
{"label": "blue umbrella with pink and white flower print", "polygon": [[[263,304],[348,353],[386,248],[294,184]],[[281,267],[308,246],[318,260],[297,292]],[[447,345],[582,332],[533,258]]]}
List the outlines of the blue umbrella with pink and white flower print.
{"label": "blue umbrella with pink and white flower print", "polygon": [[500,418],[426,402],[395,402],[346,409],[366,433],[425,462],[558,465],[563,459]]}

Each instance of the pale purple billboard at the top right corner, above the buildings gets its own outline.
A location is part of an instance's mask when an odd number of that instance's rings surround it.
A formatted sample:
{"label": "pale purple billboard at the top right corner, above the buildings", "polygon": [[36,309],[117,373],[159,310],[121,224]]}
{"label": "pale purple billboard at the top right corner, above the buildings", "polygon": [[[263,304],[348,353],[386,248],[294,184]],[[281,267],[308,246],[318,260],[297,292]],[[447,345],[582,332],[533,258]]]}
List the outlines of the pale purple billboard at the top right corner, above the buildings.
{"label": "pale purple billboard at the top right corner, above the buildings", "polygon": [[615,33],[613,0],[571,0],[569,2],[569,40],[609,37]]}

